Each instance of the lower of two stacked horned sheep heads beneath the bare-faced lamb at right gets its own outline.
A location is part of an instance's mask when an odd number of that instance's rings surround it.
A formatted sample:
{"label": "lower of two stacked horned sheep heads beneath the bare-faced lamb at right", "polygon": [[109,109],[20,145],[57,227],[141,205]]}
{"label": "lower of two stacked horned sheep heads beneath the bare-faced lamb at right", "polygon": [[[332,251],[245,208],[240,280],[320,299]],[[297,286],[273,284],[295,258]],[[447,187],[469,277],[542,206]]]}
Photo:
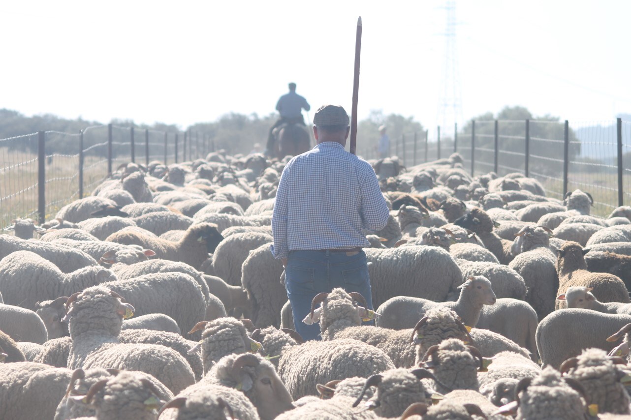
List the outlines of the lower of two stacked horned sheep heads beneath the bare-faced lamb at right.
{"label": "lower of two stacked horned sheep heads beneath the bare-faced lamb at right", "polygon": [[454,389],[480,389],[478,368],[483,369],[482,355],[459,339],[447,339],[427,349],[420,366],[432,370],[435,389],[442,394]]}

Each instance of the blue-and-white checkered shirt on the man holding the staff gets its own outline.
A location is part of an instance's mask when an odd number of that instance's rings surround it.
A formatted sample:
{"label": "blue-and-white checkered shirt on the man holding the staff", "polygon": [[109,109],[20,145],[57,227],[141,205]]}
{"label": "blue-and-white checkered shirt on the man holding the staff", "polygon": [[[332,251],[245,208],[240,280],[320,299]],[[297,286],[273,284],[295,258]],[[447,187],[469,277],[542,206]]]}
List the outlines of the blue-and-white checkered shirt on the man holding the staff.
{"label": "blue-and-white checkered shirt on the man holding the staff", "polygon": [[280,259],[292,250],[368,247],[363,229],[383,229],[389,215],[370,163],[339,143],[320,143],[283,170],[272,252]]}

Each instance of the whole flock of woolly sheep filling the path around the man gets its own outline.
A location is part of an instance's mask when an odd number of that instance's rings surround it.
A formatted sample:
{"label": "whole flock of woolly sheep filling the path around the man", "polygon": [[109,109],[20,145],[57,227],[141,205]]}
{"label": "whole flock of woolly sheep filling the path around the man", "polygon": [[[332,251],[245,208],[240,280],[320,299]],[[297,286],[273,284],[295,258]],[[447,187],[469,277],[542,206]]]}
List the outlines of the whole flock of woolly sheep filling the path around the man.
{"label": "whole flock of woolly sheep filling the path around the man", "polygon": [[[631,418],[631,207],[461,156],[371,161],[372,301],[293,329],[269,248],[288,158],[121,165],[0,235],[0,419]],[[362,325],[375,318],[376,326]]]}

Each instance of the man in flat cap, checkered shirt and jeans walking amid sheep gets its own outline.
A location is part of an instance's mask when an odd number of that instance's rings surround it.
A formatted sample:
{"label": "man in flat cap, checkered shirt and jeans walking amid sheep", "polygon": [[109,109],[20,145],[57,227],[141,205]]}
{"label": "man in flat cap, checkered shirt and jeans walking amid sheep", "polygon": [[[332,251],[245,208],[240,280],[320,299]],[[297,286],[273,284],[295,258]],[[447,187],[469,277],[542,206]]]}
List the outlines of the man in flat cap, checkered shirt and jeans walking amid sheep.
{"label": "man in flat cap, checkered shirt and jeans walking amid sheep", "polygon": [[319,339],[319,325],[302,322],[318,293],[359,292],[372,309],[363,230],[383,229],[390,215],[370,163],[344,149],[344,108],[320,107],[313,131],[315,147],[294,156],[281,174],[272,216],[271,250],[285,267],[293,322],[305,340]]}

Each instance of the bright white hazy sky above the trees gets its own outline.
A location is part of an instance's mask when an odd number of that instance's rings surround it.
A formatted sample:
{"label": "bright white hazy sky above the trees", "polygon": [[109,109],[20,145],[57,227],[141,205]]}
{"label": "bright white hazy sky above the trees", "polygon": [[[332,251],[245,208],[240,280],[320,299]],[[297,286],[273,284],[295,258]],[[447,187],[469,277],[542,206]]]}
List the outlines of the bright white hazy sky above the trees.
{"label": "bright white hazy sky above the trees", "polygon": [[[313,112],[440,122],[441,1],[4,1],[0,108],[182,128],[267,115],[295,81]],[[630,1],[457,1],[464,119],[524,105],[572,121],[631,113]]]}

